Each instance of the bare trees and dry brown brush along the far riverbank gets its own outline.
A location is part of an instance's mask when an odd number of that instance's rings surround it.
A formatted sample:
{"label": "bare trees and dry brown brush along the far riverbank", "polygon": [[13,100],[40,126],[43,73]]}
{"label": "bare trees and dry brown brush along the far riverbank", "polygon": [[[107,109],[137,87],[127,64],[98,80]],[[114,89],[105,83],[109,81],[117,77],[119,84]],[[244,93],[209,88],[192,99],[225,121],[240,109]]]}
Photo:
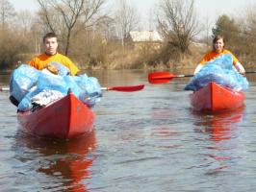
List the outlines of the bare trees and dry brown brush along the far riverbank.
{"label": "bare trees and dry brown brush along the far riverbank", "polygon": [[[139,11],[128,0],[115,8],[107,0],[37,0],[38,11],[15,11],[9,0],[0,0],[0,69],[13,69],[42,51],[42,36],[59,36],[60,51],[81,68],[153,68],[195,66],[197,56],[211,49],[211,39],[223,35],[228,48],[245,68],[255,59],[256,12],[243,17],[218,16],[212,29],[199,20],[193,0],[160,0],[153,28],[162,36],[159,49],[145,43],[135,48],[129,36],[140,30]],[[207,32],[202,35],[202,31]],[[209,33],[210,32],[210,33]],[[200,35],[200,36],[199,36]],[[199,36],[199,37],[198,37]],[[208,45],[194,47],[197,41]]]}

